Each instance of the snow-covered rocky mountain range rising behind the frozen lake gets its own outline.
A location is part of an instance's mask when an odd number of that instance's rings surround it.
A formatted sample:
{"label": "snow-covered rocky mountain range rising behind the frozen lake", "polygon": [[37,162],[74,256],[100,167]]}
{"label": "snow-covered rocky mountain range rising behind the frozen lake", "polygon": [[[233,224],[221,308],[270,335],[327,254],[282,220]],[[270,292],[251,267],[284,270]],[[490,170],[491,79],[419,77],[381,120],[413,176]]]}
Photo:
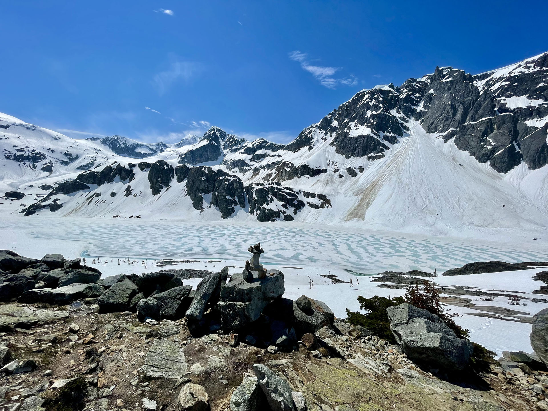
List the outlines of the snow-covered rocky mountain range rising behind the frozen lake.
{"label": "snow-covered rocky mountain range rising behind the frozen lake", "polygon": [[548,53],[362,90],[287,145],[217,127],[172,146],[73,140],[5,115],[0,128],[0,188],[26,194],[6,212],[548,229]]}

